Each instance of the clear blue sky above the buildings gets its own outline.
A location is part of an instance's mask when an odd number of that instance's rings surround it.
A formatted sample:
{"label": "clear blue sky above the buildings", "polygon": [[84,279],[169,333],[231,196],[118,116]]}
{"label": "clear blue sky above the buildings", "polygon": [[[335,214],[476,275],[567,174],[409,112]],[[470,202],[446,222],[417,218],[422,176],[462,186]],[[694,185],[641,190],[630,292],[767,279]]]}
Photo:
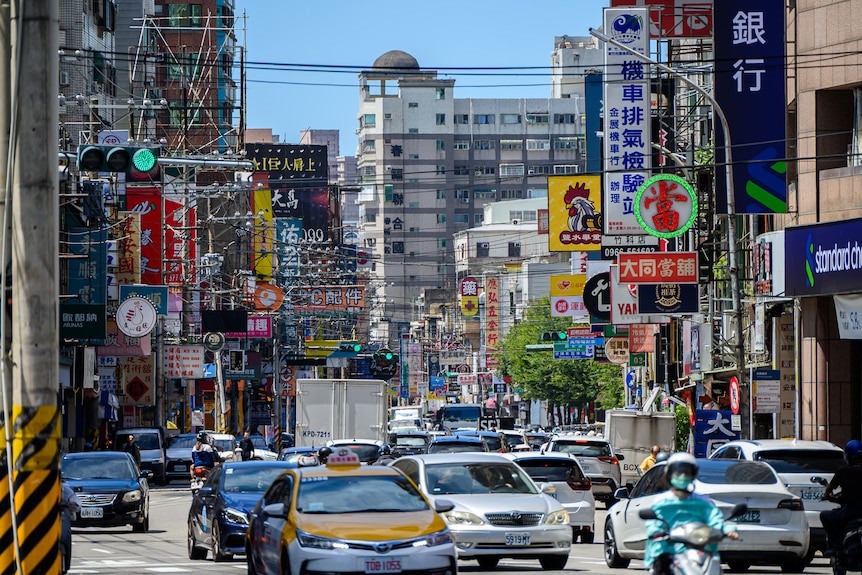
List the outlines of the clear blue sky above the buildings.
{"label": "clear blue sky above the buildings", "polygon": [[[340,154],[353,155],[357,73],[389,50],[403,50],[421,67],[455,78],[456,98],[547,97],[554,37],[589,35],[589,28],[601,26],[602,8],[609,5],[609,0],[237,0],[236,15],[247,15],[247,126],[272,128],[287,142],[298,142],[307,128],[337,129]],[[284,64],[356,68],[320,71]],[[526,66],[540,69],[485,77],[444,70]]]}

